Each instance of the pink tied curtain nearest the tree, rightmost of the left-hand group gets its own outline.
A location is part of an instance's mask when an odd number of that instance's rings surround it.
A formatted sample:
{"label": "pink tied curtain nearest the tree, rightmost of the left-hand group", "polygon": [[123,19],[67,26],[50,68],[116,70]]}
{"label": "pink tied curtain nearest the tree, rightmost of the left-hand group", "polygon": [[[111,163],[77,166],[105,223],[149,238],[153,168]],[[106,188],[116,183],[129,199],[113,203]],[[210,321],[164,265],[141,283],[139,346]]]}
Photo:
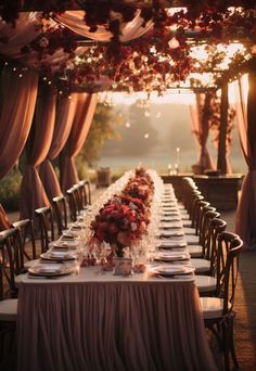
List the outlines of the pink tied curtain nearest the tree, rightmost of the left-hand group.
{"label": "pink tied curtain nearest the tree, rightmost of the left-hand group", "polygon": [[95,94],[78,94],[76,115],[66,145],[62,180],[63,191],[66,191],[68,188],[79,181],[75,165],[75,157],[78,155],[86,141],[95,112]]}

